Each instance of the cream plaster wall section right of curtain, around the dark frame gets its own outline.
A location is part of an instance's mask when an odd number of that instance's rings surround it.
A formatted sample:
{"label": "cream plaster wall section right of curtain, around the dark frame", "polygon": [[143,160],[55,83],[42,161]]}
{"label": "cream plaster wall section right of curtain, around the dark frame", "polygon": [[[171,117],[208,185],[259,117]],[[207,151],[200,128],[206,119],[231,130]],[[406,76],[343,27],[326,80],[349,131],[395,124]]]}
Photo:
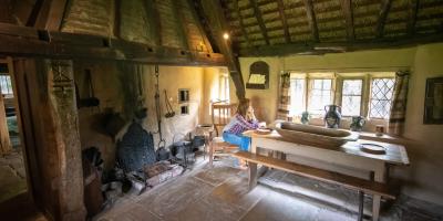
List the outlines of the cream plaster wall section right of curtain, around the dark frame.
{"label": "cream plaster wall section right of curtain, around the dark frame", "polygon": [[424,125],[426,78],[443,77],[443,44],[419,46],[414,73],[409,84],[404,137],[411,139],[408,151],[411,167],[403,176],[412,178],[405,191],[416,198],[443,204],[443,125]]}

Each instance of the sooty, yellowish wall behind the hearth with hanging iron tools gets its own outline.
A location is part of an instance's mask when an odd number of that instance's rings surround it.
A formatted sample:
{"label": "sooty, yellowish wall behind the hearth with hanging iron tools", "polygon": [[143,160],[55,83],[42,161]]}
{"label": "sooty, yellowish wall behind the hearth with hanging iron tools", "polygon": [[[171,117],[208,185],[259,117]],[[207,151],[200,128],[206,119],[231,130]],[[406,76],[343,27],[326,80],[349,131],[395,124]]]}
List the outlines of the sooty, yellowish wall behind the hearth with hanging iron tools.
{"label": "sooty, yellowish wall behind the hearth with hanging iron tools", "polygon": [[[111,169],[115,162],[115,140],[106,134],[103,128],[103,115],[113,110],[121,113],[126,123],[134,119],[134,112],[147,108],[147,117],[144,119],[144,128],[147,131],[157,131],[157,118],[155,115],[155,75],[154,66],[137,65],[131,63],[112,62],[86,62],[74,61],[75,82],[81,97],[87,95],[87,82],[85,81],[85,69],[91,71],[94,95],[100,99],[100,107],[83,107],[79,109],[80,138],[82,148],[97,147],[104,158],[105,168]],[[207,112],[209,97],[204,97],[204,77],[212,77],[213,72],[207,74],[209,67],[184,67],[184,66],[159,66],[159,102],[162,106],[162,131],[166,146],[174,140],[184,138],[193,133],[195,126],[203,119],[210,118]],[[140,77],[137,75],[140,73]],[[142,84],[140,84],[142,81]],[[142,85],[142,93],[138,86]],[[189,90],[190,101],[178,103],[178,90]],[[171,102],[175,116],[165,118],[165,94]],[[182,105],[188,105],[189,114],[181,115]],[[158,134],[154,134],[154,144],[157,148]]]}

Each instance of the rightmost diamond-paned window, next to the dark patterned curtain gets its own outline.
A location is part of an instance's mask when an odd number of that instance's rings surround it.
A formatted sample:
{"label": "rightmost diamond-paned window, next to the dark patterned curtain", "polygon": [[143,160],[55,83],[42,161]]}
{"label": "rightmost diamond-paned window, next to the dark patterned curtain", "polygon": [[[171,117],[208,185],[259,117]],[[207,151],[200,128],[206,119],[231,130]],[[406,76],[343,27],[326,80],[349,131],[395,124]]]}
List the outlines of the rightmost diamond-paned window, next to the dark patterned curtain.
{"label": "rightmost diamond-paned window, next to the dark patterned curtain", "polygon": [[394,78],[372,80],[369,117],[389,118],[394,85]]}

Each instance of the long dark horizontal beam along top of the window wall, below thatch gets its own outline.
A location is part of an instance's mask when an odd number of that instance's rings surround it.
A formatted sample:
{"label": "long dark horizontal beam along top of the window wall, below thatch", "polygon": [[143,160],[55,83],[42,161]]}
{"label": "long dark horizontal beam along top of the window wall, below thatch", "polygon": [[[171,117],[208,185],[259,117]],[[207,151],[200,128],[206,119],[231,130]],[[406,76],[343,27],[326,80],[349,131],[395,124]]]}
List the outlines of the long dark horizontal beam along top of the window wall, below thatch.
{"label": "long dark horizontal beam along top of the window wall, below thatch", "polygon": [[248,48],[240,50],[240,56],[284,56],[291,54],[324,54],[374,49],[399,49],[425,43],[443,42],[443,33],[415,35],[414,39],[391,38],[379,41],[365,40],[339,43],[291,43]]}

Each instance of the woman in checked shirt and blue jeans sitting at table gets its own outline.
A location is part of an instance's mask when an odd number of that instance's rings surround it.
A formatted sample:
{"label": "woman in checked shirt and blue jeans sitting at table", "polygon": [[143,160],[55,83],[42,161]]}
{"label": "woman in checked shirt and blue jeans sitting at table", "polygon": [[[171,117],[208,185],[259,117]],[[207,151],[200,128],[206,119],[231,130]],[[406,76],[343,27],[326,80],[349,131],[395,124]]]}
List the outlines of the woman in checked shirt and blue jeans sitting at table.
{"label": "woman in checked shirt and blue jeans sitting at table", "polygon": [[237,113],[229,124],[223,129],[223,139],[229,144],[237,145],[240,150],[248,151],[250,137],[241,134],[248,129],[257,129],[259,126],[254,109],[248,98],[243,98],[238,103]]}

